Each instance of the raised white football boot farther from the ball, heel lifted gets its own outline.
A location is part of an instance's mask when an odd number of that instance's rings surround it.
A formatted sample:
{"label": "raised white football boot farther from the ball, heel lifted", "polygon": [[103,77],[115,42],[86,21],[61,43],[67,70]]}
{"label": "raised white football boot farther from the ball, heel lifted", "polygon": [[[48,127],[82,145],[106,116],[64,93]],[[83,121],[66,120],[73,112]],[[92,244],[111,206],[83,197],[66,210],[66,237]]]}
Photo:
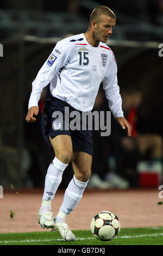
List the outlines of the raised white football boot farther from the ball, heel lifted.
{"label": "raised white football boot farther from the ball, heel lifted", "polygon": [[37,220],[41,225],[41,228],[54,228],[53,212],[38,212]]}

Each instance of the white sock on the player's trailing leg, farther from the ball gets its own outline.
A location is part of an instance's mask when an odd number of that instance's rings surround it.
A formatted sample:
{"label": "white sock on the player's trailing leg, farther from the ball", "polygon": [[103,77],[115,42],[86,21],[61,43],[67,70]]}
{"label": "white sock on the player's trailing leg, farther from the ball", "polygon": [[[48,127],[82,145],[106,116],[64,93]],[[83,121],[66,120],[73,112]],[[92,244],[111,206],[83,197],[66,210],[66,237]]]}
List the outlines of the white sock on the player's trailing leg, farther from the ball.
{"label": "white sock on the player's trailing leg, farther from the ball", "polygon": [[40,208],[42,212],[51,211],[51,201],[55,196],[62,180],[62,174],[67,166],[68,164],[62,163],[56,157],[54,157],[52,163],[49,165],[45,178],[42,205]]}

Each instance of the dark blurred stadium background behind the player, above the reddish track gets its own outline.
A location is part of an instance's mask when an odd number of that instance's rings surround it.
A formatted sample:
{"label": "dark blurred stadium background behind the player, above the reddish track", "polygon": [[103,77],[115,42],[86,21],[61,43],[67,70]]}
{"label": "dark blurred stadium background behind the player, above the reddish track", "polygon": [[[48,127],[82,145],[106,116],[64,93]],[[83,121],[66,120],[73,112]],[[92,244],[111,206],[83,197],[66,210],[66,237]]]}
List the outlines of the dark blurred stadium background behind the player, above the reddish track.
{"label": "dark blurred stadium background behind the player, above the reddish track", "polygon": [[[40,115],[49,95],[43,90],[37,121],[27,124],[32,82],[58,40],[86,32],[94,8],[107,5],[117,21],[108,46],[115,54],[123,109],[133,126],[128,139],[114,118],[111,135],[94,132],[90,188],[158,187],[162,182],[162,0],[12,1],[1,3],[0,184],[43,187],[54,155],[41,135]],[[108,111],[99,89],[95,109]],[[71,164],[60,187],[73,175]]]}

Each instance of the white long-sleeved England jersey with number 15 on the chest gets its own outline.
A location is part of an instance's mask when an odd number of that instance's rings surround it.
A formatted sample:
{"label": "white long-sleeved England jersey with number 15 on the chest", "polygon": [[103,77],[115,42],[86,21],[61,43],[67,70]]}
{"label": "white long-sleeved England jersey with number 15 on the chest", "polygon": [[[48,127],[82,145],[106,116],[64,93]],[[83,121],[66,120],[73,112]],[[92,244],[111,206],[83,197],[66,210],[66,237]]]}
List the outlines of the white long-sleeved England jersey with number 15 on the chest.
{"label": "white long-sleeved England jersey with number 15 on the chest", "polygon": [[52,96],[79,111],[91,111],[101,82],[112,114],[115,118],[123,117],[113,52],[103,42],[91,46],[84,33],[70,36],[57,42],[39,70],[32,83],[28,108],[38,106],[43,87],[50,83]]}

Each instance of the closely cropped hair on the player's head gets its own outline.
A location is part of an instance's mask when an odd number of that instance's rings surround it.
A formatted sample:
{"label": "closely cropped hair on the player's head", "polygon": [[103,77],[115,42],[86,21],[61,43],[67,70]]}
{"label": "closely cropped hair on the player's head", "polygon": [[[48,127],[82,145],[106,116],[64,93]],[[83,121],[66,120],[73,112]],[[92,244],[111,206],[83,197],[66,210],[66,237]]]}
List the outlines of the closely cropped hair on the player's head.
{"label": "closely cropped hair on the player's head", "polygon": [[108,15],[112,19],[116,19],[115,14],[113,13],[112,10],[109,9],[109,7],[101,5],[92,11],[90,15],[89,26],[91,27],[92,21],[96,21],[98,23],[102,14]]}

